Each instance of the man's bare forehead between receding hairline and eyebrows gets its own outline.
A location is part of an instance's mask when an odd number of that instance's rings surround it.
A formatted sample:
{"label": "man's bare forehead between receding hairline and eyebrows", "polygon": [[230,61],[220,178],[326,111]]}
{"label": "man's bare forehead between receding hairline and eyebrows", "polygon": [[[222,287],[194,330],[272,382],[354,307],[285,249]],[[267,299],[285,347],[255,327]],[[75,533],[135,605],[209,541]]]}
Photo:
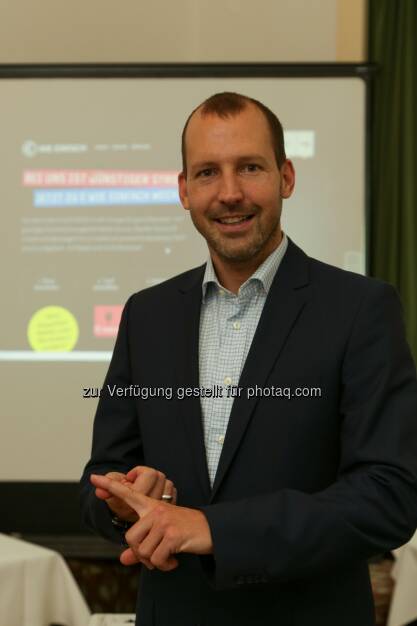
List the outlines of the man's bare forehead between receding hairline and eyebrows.
{"label": "man's bare forehead between receding hairline and eyebrows", "polygon": [[187,161],[245,152],[262,152],[274,158],[268,122],[262,111],[253,105],[227,117],[202,115],[197,110],[188,123],[185,143]]}

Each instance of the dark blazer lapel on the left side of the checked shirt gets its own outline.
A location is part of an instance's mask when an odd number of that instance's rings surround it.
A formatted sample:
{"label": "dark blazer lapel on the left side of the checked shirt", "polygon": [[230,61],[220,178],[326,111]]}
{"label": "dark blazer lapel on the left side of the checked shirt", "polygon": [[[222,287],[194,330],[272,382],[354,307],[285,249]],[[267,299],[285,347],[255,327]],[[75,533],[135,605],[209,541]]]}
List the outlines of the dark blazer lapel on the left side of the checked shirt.
{"label": "dark blazer lapel on the left side of the checked shirt", "polygon": [[[183,310],[181,325],[178,329],[180,361],[177,377],[179,387],[196,388],[200,386],[199,332],[203,275],[204,267],[198,268],[191,279],[180,288]],[[204,494],[204,502],[208,502],[211,486],[207,468],[200,398],[193,396],[186,398],[178,402],[178,407],[178,417],[185,430],[188,451]]]}

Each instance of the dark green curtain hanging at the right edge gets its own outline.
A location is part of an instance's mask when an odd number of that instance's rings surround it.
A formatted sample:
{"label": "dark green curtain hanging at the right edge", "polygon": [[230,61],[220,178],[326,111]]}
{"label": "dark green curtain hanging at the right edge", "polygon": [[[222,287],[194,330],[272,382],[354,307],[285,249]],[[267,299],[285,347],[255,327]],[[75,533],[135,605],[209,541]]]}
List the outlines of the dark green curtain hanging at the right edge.
{"label": "dark green curtain hanging at the right edge", "polygon": [[417,359],[417,0],[369,0],[370,273],[399,291]]}

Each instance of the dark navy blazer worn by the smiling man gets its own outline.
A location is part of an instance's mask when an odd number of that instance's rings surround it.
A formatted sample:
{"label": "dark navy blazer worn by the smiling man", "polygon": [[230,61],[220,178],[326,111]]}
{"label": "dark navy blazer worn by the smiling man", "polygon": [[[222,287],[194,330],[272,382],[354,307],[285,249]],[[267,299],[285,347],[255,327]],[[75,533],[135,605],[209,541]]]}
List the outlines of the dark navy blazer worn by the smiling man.
{"label": "dark navy blazer worn by the smiling man", "polygon": [[[417,527],[417,382],[395,290],[309,258],[292,241],[239,386],[316,397],[233,404],[210,488],[198,388],[204,266],[124,309],[82,478],[86,522],[118,541],[90,473],[148,465],[207,516],[213,556],[143,568],[140,626],[371,626],[367,559]],[[116,397],[106,385],[170,388]]]}

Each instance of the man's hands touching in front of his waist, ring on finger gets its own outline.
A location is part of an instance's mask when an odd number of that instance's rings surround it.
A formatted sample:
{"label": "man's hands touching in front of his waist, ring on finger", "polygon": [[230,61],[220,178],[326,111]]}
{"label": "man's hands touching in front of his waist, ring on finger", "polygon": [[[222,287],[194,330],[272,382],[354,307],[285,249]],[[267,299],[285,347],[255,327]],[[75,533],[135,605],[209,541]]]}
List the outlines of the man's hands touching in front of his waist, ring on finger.
{"label": "man's hands touching in front of his waist, ring on finger", "polygon": [[[138,466],[126,475],[91,474],[96,496],[105,500],[119,518],[133,523],[126,532],[129,548],[120,555],[123,565],[141,562],[148,569],[164,572],[178,567],[175,554],[211,554],[213,542],[205,515],[176,505],[176,489],[162,472]],[[172,504],[161,501],[163,493]]]}

